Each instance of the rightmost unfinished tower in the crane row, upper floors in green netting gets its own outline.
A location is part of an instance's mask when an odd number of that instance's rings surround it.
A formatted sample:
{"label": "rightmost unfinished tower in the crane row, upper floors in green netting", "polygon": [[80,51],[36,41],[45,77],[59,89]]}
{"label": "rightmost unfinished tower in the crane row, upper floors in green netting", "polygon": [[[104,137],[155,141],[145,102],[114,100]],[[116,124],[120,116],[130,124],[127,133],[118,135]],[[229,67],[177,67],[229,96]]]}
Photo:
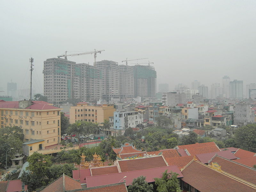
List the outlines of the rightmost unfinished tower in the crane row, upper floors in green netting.
{"label": "rightmost unfinished tower in the crane row, upper floors in green netting", "polygon": [[142,98],[156,97],[156,71],[153,66],[135,65],[134,74],[134,96]]}

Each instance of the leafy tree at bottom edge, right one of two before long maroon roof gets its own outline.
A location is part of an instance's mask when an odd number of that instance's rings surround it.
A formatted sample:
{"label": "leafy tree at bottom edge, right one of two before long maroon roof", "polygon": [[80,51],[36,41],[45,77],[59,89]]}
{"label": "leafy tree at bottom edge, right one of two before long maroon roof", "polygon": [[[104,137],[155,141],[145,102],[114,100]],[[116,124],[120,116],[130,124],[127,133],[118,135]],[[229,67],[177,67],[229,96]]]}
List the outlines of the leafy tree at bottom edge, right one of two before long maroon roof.
{"label": "leafy tree at bottom edge, right one of two before long maroon roof", "polygon": [[158,192],[182,192],[180,181],[177,178],[178,173],[164,171],[162,178],[154,178]]}

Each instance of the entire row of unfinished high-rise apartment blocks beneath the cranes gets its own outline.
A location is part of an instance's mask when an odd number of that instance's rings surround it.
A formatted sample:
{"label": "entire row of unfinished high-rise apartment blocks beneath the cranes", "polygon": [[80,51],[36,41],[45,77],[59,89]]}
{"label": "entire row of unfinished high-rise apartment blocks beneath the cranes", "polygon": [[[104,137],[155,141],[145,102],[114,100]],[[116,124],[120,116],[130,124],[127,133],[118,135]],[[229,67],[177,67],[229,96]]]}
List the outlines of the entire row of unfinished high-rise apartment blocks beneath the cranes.
{"label": "entire row of unfinished high-rise apartment blocks beneath the cranes", "polygon": [[118,65],[102,60],[91,66],[66,59],[44,61],[44,96],[59,106],[68,99],[83,101],[113,98],[153,98],[156,96],[156,71],[152,66]]}

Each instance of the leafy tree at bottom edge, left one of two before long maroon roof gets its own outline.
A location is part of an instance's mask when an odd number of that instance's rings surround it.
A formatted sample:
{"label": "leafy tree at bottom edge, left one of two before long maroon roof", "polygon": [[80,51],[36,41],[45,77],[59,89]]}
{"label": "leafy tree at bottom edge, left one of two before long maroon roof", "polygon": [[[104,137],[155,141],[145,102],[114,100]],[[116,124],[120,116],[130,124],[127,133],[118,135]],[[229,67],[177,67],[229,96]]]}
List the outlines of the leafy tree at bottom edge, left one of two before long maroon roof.
{"label": "leafy tree at bottom edge, left one of two before long maroon roof", "polygon": [[128,187],[128,192],[153,192],[153,185],[148,184],[146,177],[140,176],[132,181],[132,185]]}

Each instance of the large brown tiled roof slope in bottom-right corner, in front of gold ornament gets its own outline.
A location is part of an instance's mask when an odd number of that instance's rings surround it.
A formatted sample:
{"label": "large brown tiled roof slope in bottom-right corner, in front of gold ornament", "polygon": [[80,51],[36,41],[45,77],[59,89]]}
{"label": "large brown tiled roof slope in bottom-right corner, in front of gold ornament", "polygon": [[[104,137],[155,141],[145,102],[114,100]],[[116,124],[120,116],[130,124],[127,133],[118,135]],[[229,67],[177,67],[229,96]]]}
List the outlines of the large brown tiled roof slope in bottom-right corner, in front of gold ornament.
{"label": "large brown tiled roof slope in bottom-right corner, in front of gold ornament", "polygon": [[183,174],[181,180],[202,192],[255,192],[256,190],[255,187],[216,171],[199,161],[192,161],[181,173]]}

